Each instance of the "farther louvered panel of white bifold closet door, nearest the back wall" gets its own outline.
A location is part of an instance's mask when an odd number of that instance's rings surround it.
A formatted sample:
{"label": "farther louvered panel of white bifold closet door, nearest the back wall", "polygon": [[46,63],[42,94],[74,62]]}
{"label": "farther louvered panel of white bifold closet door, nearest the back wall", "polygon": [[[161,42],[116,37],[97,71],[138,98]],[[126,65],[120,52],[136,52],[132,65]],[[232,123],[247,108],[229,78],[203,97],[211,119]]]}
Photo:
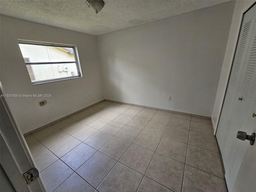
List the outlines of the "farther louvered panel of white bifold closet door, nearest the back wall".
{"label": "farther louvered panel of white bifold closet door, nearest the back wall", "polygon": [[[218,140],[218,144],[220,146],[220,151],[222,154],[225,154],[225,143],[228,136],[228,132],[231,125],[232,116],[239,116],[239,114],[234,114],[235,112],[235,102],[237,102],[236,92],[238,90],[242,69],[244,66],[244,62],[246,59],[248,46],[250,43],[250,38],[252,36],[252,30],[255,22],[255,17],[253,18],[252,14],[248,14],[246,12],[244,15],[244,19],[242,22],[242,27],[240,30],[240,36],[238,39],[238,44],[236,48],[236,53],[234,56],[234,62],[232,65],[232,70],[230,74],[230,80],[228,82],[228,88],[226,91],[224,103],[222,106],[222,111],[220,115],[220,121],[218,123],[218,129],[216,132],[216,138]],[[236,110],[236,112],[238,112]],[[241,112],[239,112],[241,115]],[[237,119],[238,120],[238,119]],[[239,124],[239,120],[236,123],[237,126]],[[226,161],[223,162],[224,166],[227,166]]]}

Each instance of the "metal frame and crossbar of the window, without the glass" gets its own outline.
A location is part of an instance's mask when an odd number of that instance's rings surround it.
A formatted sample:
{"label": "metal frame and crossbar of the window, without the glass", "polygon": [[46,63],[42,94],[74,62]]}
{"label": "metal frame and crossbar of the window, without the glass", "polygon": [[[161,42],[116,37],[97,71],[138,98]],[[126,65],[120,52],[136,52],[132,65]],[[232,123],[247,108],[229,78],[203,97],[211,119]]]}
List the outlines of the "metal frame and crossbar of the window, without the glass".
{"label": "metal frame and crossbar of the window, without the glass", "polygon": [[[72,77],[62,77],[62,78],[55,78],[55,79],[48,79],[48,80],[40,80],[40,81],[34,81],[32,82],[31,78],[31,83],[32,85],[36,84],[43,84],[43,83],[50,83],[50,82],[56,82],[56,81],[62,81],[62,80],[68,80],[68,79],[75,79],[75,78],[80,78],[82,77],[82,69],[80,66],[80,60],[78,57],[78,50],[76,45],[71,45],[71,44],[60,44],[60,43],[52,43],[52,42],[39,42],[39,41],[33,41],[33,40],[23,40],[23,39],[17,39],[18,44],[30,44],[30,45],[40,45],[40,46],[52,46],[52,47],[67,47],[67,48],[72,48],[74,52],[74,58],[75,61],[72,62],[25,62],[26,66],[27,65],[38,65],[38,64],[69,64],[69,63],[75,63],[76,68],[78,71],[78,75],[72,76]],[[20,50],[21,52],[21,50]],[[21,52],[22,53],[22,52]]]}

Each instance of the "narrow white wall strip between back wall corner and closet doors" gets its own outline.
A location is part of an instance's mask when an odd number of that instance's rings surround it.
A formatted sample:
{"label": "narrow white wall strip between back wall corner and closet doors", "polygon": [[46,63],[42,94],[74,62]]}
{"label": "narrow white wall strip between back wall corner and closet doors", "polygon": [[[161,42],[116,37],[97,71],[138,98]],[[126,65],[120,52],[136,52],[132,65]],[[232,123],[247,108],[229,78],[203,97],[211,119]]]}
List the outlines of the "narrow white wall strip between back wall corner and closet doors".
{"label": "narrow white wall strip between back wall corner and closet doors", "polygon": [[217,126],[218,126],[218,121],[220,117],[220,112],[222,109],[222,104],[224,101],[224,96],[226,93],[226,87],[228,84],[228,79],[229,79],[229,74],[230,70],[232,67],[232,62],[234,58],[234,53],[236,49],[236,43],[238,40],[238,35],[240,31],[240,26],[241,26],[241,15],[242,15],[242,10],[248,5],[252,4],[252,2],[255,1],[241,1],[238,0],[236,1],[236,6],[232,18],[232,24],[230,27],[230,33],[228,37],[228,44],[226,48],[226,54],[224,57],[223,61],[223,66],[222,66],[222,71],[220,75],[220,81],[218,85],[218,91],[216,94],[216,99],[215,99],[215,104],[212,112],[212,122],[213,122],[213,127],[214,131],[216,132]]}

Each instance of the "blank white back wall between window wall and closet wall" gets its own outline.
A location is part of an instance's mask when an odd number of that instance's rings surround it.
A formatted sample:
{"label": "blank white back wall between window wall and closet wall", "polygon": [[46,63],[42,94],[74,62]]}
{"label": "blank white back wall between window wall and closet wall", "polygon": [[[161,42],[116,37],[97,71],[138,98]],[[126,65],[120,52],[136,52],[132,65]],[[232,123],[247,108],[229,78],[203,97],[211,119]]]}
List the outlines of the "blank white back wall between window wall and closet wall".
{"label": "blank white back wall between window wall and closet wall", "polygon": [[211,116],[234,5],[98,36],[105,98]]}

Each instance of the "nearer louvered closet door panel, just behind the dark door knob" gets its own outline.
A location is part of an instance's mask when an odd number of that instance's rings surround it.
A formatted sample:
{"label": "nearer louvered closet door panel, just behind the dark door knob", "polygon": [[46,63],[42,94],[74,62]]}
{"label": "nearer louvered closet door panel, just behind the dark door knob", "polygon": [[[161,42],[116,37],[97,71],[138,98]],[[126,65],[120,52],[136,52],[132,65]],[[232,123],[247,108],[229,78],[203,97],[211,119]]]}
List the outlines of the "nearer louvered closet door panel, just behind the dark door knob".
{"label": "nearer louvered closet door panel, just behind the dark door knob", "polygon": [[[255,9],[256,11],[256,9]],[[254,30],[252,32],[252,37],[250,40],[250,45],[248,48],[248,54],[246,61],[244,63],[244,68],[242,71],[242,76],[240,79],[240,86],[238,87],[238,92],[236,98],[242,98],[235,104],[234,114],[239,114],[241,116],[233,116],[231,119],[230,131],[227,136],[225,144],[226,158],[228,161],[228,166],[226,169],[226,178],[229,178],[227,182],[229,188],[232,188],[238,174],[238,170],[241,166],[244,154],[247,147],[250,145],[249,142],[243,142],[236,138],[238,131],[244,131],[248,134],[252,134],[252,130],[255,128],[255,119],[252,117],[252,111],[256,109],[255,100],[256,96],[252,94],[252,90],[256,86],[256,25],[254,22]],[[236,122],[240,123],[236,124]],[[238,126],[236,126],[238,125]],[[256,163],[256,162],[255,162]]]}

